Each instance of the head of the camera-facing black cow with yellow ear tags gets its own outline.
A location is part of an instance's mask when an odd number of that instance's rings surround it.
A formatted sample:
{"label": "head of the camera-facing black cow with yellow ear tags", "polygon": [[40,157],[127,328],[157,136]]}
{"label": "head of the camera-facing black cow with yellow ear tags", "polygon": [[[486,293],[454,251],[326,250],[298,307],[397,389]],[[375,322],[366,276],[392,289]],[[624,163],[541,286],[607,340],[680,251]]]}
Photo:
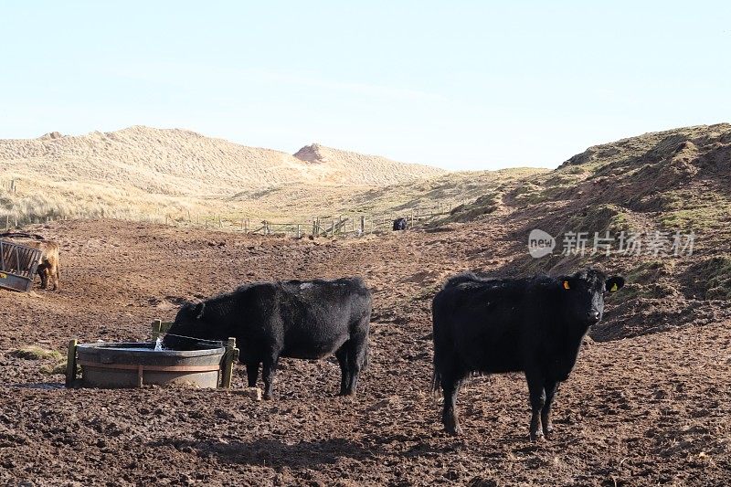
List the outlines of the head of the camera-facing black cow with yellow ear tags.
{"label": "head of the camera-facing black cow with yellow ear tags", "polygon": [[586,327],[601,320],[604,314],[604,297],[624,286],[624,278],[608,278],[603,272],[593,269],[581,270],[573,276],[560,276],[556,279],[560,286],[564,318]]}

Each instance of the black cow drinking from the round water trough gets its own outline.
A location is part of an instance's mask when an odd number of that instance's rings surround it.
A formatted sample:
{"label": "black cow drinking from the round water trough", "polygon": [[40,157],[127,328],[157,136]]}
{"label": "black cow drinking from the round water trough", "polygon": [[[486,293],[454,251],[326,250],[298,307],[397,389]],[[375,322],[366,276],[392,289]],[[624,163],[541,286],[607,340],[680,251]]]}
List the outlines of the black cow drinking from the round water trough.
{"label": "black cow drinking from the round water trough", "polygon": [[271,398],[281,356],[320,359],[335,355],[342,373],[340,394],[355,396],[367,365],[371,293],[360,278],[246,284],[197,304],[185,304],[164,337],[173,349],[195,347],[196,337],[236,337],[239,360],[256,386],[262,364],[264,398]]}

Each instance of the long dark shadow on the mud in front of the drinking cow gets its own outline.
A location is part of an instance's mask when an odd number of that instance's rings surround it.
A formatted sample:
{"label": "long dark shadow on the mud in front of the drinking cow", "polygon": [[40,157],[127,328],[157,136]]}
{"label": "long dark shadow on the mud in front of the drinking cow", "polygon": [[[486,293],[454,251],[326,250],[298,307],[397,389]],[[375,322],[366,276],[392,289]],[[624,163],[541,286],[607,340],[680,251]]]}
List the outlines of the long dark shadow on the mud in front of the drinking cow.
{"label": "long dark shadow on the mud in front of the drinking cow", "polygon": [[253,441],[159,440],[154,446],[174,446],[177,450],[212,456],[224,463],[312,468],[320,464],[336,463],[340,458],[367,460],[374,456],[372,449],[346,439],[283,442],[279,439]]}

